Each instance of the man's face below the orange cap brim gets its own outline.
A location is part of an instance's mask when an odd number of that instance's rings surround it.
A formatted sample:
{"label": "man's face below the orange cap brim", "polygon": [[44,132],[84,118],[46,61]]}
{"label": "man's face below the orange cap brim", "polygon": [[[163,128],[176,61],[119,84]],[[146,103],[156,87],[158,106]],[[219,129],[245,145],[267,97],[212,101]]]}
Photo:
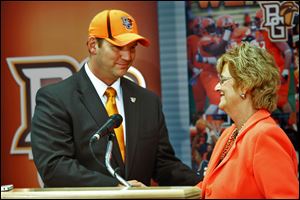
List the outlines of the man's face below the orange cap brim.
{"label": "man's face below the orange cap brim", "polygon": [[126,74],[135,58],[135,47],[137,42],[129,43],[126,46],[118,47],[106,40],[96,45],[95,60],[98,66],[97,71],[103,78],[117,79]]}

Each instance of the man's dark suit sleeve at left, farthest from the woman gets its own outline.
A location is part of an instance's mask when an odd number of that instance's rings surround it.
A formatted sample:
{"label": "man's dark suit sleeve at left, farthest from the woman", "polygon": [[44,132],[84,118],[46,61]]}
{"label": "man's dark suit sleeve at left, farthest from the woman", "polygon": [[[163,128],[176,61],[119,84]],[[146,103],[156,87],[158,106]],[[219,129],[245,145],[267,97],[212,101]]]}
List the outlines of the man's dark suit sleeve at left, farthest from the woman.
{"label": "man's dark suit sleeve at left, farthest from the woman", "polygon": [[78,162],[76,151],[80,149],[75,149],[72,119],[57,94],[46,88],[36,95],[31,127],[33,159],[45,186],[117,185],[116,179],[89,170]]}

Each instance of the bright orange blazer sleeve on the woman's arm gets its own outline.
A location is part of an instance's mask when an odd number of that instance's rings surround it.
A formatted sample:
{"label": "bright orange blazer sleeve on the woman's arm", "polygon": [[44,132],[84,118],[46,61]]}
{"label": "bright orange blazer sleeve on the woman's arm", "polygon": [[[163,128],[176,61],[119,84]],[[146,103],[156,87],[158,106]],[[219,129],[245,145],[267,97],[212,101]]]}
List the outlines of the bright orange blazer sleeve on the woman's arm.
{"label": "bright orange blazer sleeve on the woman's arm", "polygon": [[299,198],[295,150],[280,128],[273,127],[259,134],[253,170],[266,198]]}

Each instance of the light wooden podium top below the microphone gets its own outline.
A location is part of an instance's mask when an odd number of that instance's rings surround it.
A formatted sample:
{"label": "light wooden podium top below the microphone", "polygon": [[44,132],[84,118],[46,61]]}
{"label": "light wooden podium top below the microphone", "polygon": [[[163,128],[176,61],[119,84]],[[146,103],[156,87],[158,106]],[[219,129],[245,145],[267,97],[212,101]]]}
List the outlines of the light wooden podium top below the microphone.
{"label": "light wooden podium top below the microphone", "polygon": [[200,199],[198,187],[16,188],[1,199]]}

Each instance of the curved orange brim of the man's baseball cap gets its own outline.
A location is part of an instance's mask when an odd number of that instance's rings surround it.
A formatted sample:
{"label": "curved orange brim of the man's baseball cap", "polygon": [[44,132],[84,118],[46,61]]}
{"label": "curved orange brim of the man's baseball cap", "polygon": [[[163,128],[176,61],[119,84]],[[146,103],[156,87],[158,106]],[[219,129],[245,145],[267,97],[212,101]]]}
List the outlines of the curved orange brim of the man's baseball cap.
{"label": "curved orange brim of the man's baseball cap", "polygon": [[129,43],[132,43],[134,41],[137,41],[141,45],[146,46],[146,47],[150,45],[150,42],[148,39],[146,39],[138,34],[135,34],[135,33],[124,33],[124,34],[115,36],[113,38],[105,38],[105,40],[112,43],[113,45],[120,46],[120,47],[125,46]]}

